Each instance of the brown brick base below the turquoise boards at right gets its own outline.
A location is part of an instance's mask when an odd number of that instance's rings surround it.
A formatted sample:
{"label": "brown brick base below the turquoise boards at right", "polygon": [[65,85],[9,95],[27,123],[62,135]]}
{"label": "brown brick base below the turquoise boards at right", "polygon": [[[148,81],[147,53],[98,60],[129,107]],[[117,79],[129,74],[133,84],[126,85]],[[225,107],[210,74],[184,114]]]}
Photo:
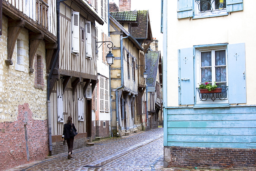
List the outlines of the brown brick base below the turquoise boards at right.
{"label": "brown brick base below the turquoise boards at right", "polygon": [[164,167],[249,169],[255,162],[256,149],[164,147]]}

